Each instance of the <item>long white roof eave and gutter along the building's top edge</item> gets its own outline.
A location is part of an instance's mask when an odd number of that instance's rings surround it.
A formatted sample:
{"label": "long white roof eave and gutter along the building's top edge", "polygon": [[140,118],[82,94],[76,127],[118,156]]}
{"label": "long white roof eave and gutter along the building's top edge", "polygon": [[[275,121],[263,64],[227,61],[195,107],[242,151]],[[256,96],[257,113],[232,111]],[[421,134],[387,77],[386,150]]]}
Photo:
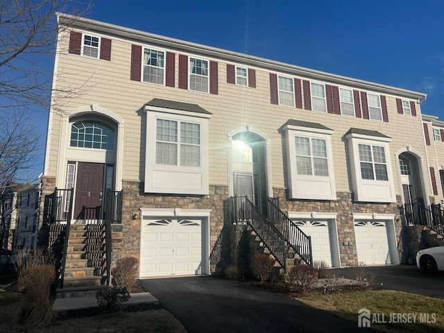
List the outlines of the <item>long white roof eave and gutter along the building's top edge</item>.
{"label": "long white roof eave and gutter along the building's top edge", "polygon": [[348,85],[356,87],[358,89],[368,89],[373,92],[379,92],[382,94],[393,94],[409,99],[425,99],[427,97],[427,94],[424,94],[422,92],[414,92],[412,90],[391,87],[388,85],[381,85],[379,83],[359,80],[357,78],[330,74],[325,71],[316,71],[314,69],[291,65],[285,62],[278,62],[266,58],[250,56],[244,53],[219,49],[213,46],[205,46],[193,42],[185,42],[183,40],[165,37],[162,35],[155,35],[153,33],[146,33],[144,31],[139,31],[132,28],[126,28],[123,26],[117,26],[115,24],[96,21],[94,19],[75,17],[73,15],[61,12],[57,12],[56,15],[58,16],[59,24],[65,24],[73,28],[114,35],[130,41],[153,44],[169,49],[180,50],[182,52],[197,53],[199,55],[207,56],[210,58],[218,58],[228,62],[237,62],[243,65],[263,68],[268,71],[278,71],[280,73],[300,76],[302,78],[323,80],[327,83],[334,83],[336,85]]}

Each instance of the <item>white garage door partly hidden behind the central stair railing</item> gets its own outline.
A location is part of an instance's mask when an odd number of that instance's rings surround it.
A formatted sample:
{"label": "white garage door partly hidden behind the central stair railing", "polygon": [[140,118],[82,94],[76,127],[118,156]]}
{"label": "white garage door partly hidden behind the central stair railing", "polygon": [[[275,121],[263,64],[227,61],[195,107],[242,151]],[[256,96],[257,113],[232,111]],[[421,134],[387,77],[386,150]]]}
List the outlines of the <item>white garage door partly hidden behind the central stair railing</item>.
{"label": "white garage door partly hidden behind the central stair railing", "polygon": [[324,261],[332,266],[332,248],[330,246],[330,234],[327,221],[294,221],[296,225],[311,236],[311,251],[313,261]]}

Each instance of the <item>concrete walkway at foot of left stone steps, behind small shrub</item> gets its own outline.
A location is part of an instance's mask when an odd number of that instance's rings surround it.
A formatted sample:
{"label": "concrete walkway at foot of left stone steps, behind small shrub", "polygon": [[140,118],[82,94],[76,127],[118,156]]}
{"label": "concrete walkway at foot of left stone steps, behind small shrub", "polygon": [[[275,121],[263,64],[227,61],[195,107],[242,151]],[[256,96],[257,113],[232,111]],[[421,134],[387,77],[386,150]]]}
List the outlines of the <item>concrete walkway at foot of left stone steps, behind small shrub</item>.
{"label": "concrete walkway at foot of left stone steps, behind small shrub", "polygon": [[[151,293],[131,293],[127,302],[121,303],[122,307],[139,305],[159,305],[159,301]],[[78,311],[99,307],[96,296],[57,298],[53,303],[53,311]]]}

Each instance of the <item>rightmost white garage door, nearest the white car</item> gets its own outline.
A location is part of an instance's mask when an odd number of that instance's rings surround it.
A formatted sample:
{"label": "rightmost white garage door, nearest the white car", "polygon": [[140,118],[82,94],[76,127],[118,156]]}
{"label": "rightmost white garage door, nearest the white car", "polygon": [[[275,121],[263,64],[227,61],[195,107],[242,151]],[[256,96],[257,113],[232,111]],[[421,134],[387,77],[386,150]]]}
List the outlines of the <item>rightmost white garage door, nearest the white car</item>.
{"label": "rightmost white garage door, nearest the white car", "polygon": [[358,262],[391,264],[385,222],[355,221],[355,237]]}

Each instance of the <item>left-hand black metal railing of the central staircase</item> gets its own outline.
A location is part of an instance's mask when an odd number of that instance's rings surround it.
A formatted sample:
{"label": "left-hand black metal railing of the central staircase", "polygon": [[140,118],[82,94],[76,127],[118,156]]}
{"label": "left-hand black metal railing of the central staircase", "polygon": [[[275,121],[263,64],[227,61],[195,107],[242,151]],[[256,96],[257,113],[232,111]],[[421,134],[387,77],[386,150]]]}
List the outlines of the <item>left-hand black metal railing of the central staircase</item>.
{"label": "left-hand black metal railing of the central staircase", "polygon": [[282,234],[246,196],[234,196],[228,200],[230,200],[232,223],[250,226],[271,255],[287,272],[287,246]]}

